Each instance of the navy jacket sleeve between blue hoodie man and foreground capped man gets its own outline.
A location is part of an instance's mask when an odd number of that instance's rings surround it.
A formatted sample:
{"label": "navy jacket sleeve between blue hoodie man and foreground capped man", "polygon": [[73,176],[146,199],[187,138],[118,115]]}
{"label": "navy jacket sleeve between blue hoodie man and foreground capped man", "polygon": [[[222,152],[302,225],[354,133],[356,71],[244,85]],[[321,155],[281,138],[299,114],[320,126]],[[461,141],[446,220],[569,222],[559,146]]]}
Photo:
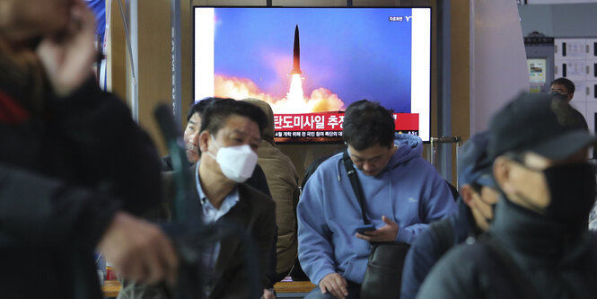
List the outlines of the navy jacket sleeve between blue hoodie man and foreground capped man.
{"label": "navy jacket sleeve between blue hoodie man and foreground capped man", "polygon": [[[402,270],[400,298],[415,298],[419,287],[437,260],[453,246],[464,242],[470,236],[478,235],[479,229],[470,207],[462,198],[458,199],[457,205],[458,209],[452,215],[429,225],[429,229],[421,233],[410,247]],[[439,229],[443,225],[448,225],[448,229]]]}

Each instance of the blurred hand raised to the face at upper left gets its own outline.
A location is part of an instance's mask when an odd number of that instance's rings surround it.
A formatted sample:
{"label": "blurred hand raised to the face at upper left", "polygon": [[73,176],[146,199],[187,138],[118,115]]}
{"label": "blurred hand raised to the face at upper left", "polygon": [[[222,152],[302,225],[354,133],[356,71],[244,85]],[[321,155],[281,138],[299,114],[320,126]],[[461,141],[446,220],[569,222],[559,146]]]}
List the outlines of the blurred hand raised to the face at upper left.
{"label": "blurred hand raised to the face at upper left", "polygon": [[57,96],[69,95],[92,75],[94,34],[93,14],[82,0],[75,0],[66,31],[41,41],[37,54]]}

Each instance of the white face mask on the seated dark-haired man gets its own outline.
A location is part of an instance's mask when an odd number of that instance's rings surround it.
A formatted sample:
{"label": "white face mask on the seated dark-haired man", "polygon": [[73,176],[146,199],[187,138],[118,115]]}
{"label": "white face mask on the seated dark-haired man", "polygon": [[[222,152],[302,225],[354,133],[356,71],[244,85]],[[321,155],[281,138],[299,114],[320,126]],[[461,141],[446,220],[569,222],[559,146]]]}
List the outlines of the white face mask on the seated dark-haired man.
{"label": "white face mask on the seated dark-haired man", "polygon": [[220,146],[212,135],[212,140],[217,146],[217,155],[209,153],[212,158],[220,165],[224,176],[229,180],[244,182],[248,180],[257,165],[257,154],[250,149],[249,145]]}

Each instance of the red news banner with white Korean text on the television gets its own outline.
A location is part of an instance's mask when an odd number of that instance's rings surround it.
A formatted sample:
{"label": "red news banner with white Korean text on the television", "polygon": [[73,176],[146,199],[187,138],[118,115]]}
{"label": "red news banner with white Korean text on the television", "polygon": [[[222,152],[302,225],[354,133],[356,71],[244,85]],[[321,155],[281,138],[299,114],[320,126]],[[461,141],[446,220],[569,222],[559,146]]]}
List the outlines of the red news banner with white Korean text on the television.
{"label": "red news banner with white Korean text on the television", "polygon": [[[397,131],[417,131],[418,113],[394,113]],[[275,114],[277,131],[341,131],[344,112]]]}

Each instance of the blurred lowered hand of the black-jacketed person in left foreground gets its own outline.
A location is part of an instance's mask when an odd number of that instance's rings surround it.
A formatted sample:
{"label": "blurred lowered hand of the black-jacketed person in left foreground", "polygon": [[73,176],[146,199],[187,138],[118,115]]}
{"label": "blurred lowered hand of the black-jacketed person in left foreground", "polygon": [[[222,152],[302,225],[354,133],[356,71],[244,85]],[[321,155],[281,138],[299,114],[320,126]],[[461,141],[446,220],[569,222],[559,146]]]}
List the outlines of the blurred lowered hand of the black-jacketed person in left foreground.
{"label": "blurred lowered hand of the black-jacketed person in left foreground", "polygon": [[147,284],[176,281],[179,261],[170,239],[145,220],[118,212],[98,249],[124,278]]}

